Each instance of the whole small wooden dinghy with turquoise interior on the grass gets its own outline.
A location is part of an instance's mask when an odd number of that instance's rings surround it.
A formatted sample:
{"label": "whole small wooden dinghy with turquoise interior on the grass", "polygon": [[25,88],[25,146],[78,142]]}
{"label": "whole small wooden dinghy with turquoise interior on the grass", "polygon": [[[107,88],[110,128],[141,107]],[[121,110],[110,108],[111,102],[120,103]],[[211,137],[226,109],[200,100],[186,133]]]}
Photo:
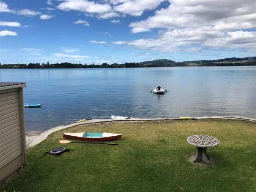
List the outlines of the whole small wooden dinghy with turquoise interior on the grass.
{"label": "whole small wooden dinghy with turquoise interior on the grass", "polygon": [[63,137],[73,139],[77,141],[111,141],[122,137],[122,134],[116,133],[92,133],[92,132],[81,132],[81,133],[64,133]]}

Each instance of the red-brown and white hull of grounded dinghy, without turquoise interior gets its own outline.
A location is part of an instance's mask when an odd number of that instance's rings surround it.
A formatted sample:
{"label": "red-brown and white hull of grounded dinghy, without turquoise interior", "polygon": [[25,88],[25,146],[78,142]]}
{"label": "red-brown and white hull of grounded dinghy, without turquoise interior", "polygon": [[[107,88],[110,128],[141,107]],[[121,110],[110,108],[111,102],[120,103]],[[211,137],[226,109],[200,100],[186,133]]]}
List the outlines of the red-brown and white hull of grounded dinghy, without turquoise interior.
{"label": "red-brown and white hull of grounded dinghy, without turquoise interior", "polygon": [[77,140],[77,141],[91,141],[91,142],[111,141],[111,140],[120,139],[122,137],[122,134],[103,133],[103,137],[88,138],[88,137],[82,137],[82,134],[83,133],[64,133],[63,137],[67,139]]}

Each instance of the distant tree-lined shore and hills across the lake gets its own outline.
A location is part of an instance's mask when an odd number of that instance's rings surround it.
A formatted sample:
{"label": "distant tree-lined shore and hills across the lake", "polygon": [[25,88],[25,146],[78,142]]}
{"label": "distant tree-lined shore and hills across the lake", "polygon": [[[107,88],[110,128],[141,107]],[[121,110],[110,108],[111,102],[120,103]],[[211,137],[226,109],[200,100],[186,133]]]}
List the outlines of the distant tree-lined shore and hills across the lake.
{"label": "distant tree-lined shore and hills across the lake", "polygon": [[101,65],[95,64],[81,64],[81,63],[29,63],[27,64],[4,64],[0,68],[133,68],[133,67],[186,67],[186,66],[246,66],[246,65],[256,65],[255,57],[244,57],[244,58],[225,58],[218,60],[196,60],[196,61],[184,61],[175,62],[168,59],[158,59],[153,61],[144,61],[140,63],[102,63]]}

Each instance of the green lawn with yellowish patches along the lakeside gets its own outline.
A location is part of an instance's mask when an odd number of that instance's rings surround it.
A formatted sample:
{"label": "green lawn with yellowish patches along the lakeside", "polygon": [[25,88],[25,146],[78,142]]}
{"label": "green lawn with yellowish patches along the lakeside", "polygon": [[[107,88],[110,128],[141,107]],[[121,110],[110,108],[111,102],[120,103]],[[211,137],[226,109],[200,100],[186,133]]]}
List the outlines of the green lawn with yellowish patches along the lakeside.
{"label": "green lawn with yellowish patches along the lakeside", "polygon": [[[122,133],[119,145],[60,144],[64,132]],[[213,166],[197,166],[189,135],[215,136]],[[53,147],[73,149],[55,157]],[[28,150],[28,165],[0,191],[256,191],[256,123],[238,120],[116,122],[76,126]]]}

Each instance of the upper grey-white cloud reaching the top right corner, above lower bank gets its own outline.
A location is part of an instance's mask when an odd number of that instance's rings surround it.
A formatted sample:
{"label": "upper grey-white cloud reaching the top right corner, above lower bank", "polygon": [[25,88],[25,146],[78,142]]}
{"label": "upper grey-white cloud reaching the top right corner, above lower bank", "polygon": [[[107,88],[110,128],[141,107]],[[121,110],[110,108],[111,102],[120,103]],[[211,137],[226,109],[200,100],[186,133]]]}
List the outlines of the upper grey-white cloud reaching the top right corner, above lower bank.
{"label": "upper grey-white cloud reaching the top right corner, above lower bank", "polygon": [[[129,26],[132,27],[132,33],[150,31],[153,28],[196,28],[202,25],[212,26],[221,23],[225,25],[231,20],[233,25],[239,26],[241,22],[244,25],[249,21],[249,17],[245,15],[255,14],[256,7],[255,0],[170,1],[169,7],[156,11],[154,16],[131,23]],[[232,19],[232,17],[235,18]],[[251,22],[252,20],[249,21],[249,23]]]}

